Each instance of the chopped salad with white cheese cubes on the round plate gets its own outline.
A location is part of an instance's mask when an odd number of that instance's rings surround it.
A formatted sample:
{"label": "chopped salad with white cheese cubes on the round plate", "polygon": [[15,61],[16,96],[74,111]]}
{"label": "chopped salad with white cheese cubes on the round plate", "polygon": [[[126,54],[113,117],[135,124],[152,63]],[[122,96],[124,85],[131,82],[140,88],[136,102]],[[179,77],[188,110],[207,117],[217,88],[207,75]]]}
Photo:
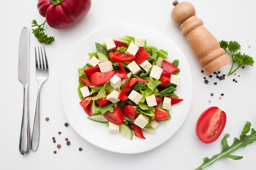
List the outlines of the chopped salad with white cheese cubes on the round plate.
{"label": "chopped salad with white cheese cubes on the round plate", "polygon": [[126,35],[95,43],[96,52],[78,68],[80,105],[88,119],[106,123],[109,133],[132,140],[155,133],[161,121],[171,119],[180,83],[179,60],[164,60],[168,52],[147,46],[144,37]]}

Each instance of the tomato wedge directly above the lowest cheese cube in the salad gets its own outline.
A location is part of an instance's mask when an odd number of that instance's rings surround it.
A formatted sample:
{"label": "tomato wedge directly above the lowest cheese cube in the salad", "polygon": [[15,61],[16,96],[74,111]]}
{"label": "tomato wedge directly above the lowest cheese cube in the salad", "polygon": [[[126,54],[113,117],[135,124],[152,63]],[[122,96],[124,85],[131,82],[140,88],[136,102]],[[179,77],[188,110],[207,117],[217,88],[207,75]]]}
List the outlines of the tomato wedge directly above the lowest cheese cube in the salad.
{"label": "tomato wedge directly above the lowest cheese cube in the salad", "polygon": [[103,115],[106,117],[106,119],[108,119],[108,121],[110,121],[113,124],[116,124],[116,125],[123,124],[124,115],[121,107],[117,106],[116,108],[115,107],[113,108],[114,108],[113,112],[107,111]]}

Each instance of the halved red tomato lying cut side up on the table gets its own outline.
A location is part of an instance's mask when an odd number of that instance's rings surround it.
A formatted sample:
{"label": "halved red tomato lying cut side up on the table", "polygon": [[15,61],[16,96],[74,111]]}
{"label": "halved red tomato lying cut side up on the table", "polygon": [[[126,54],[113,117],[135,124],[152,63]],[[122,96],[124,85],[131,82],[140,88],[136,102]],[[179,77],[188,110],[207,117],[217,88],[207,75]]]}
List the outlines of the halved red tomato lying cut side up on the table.
{"label": "halved red tomato lying cut side up on the table", "polygon": [[205,144],[216,141],[226,124],[226,113],[218,107],[209,107],[200,115],[196,123],[196,135]]}

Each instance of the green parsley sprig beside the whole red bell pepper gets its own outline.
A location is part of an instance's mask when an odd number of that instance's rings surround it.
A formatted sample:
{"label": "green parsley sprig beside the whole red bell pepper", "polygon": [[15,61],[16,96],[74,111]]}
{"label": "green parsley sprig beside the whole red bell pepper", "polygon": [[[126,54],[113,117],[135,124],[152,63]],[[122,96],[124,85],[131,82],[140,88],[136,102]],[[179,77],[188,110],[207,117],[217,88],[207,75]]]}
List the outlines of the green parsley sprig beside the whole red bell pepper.
{"label": "green parsley sprig beside the whole red bell pepper", "polygon": [[[45,21],[46,22],[46,21]],[[52,44],[55,39],[54,37],[48,37],[45,34],[45,22],[43,24],[38,25],[36,20],[32,21],[32,27],[37,26],[36,29],[32,29],[32,33],[34,33],[34,36],[38,39],[38,42],[45,43],[45,44]]]}

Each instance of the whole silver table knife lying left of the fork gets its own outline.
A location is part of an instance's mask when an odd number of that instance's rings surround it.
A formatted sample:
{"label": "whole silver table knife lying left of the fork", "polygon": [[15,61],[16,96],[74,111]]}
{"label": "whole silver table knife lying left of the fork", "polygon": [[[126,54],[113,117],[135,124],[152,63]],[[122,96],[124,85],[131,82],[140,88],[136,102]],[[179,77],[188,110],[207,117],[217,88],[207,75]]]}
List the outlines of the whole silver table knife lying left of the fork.
{"label": "whole silver table knife lying left of the fork", "polygon": [[22,124],[20,130],[19,150],[22,155],[27,155],[31,148],[29,131],[29,111],[28,111],[28,86],[29,86],[29,29],[23,27],[20,34],[19,58],[18,58],[18,78],[24,87],[24,102],[22,113]]}

